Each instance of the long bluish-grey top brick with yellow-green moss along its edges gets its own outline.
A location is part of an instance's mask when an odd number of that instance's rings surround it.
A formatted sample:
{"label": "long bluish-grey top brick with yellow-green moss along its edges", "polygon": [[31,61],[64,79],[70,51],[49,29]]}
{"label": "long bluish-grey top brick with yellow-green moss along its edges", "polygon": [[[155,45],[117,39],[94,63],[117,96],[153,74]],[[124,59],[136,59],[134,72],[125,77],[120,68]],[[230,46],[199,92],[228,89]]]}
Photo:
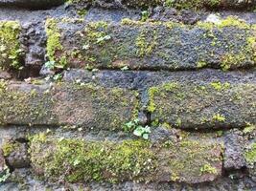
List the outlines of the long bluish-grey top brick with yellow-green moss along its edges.
{"label": "long bluish-grey top brick with yellow-green moss along its edges", "polygon": [[131,20],[83,26],[49,19],[46,31],[48,56],[62,67],[229,70],[255,65],[254,30],[231,17],[218,26],[200,23],[191,28]]}

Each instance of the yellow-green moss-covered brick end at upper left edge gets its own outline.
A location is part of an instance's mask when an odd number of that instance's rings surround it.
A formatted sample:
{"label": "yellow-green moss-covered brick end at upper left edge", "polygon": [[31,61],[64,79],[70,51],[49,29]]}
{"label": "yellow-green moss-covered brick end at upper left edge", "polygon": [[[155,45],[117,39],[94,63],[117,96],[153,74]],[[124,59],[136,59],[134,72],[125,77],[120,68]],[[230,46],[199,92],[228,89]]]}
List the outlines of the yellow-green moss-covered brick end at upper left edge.
{"label": "yellow-green moss-covered brick end at upper left edge", "polygon": [[0,21],[0,69],[20,69],[22,50],[21,27],[16,21]]}

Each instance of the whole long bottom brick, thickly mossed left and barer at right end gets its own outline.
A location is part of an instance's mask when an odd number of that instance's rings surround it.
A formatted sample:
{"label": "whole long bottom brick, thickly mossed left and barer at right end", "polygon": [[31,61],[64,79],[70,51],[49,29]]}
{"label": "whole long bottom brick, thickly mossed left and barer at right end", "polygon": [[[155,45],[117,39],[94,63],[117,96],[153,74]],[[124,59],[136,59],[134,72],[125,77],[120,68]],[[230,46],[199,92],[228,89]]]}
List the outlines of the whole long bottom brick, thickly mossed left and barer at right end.
{"label": "whole long bottom brick, thickly mossed left and barer at right end", "polygon": [[151,144],[142,139],[92,141],[43,134],[30,140],[32,166],[47,180],[195,183],[214,180],[221,174],[221,145],[213,142]]}

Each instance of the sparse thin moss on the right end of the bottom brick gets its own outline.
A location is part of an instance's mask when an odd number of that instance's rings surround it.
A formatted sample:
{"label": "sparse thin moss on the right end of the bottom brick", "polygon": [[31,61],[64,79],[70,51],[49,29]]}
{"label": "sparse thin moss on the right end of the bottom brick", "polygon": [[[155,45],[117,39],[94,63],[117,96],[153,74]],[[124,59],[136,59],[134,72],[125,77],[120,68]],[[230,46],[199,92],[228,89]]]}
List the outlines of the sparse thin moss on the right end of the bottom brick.
{"label": "sparse thin moss on the right end of the bottom brick", "polygon": [[[173,159],[169,161],[171,180],[182,181],[187,176],[189,179],[192,177],[199,179],[204,173],[218,174],[217,168],[210,163],[221,162],[221,157],[209,152],[217,148],[216,145],[202,145],[200,141],[195,140],[183,140],[178,145],[168,145],[168,148],[173,150],[170,156]],[[167,154],[166,158],[168,157]]]}

